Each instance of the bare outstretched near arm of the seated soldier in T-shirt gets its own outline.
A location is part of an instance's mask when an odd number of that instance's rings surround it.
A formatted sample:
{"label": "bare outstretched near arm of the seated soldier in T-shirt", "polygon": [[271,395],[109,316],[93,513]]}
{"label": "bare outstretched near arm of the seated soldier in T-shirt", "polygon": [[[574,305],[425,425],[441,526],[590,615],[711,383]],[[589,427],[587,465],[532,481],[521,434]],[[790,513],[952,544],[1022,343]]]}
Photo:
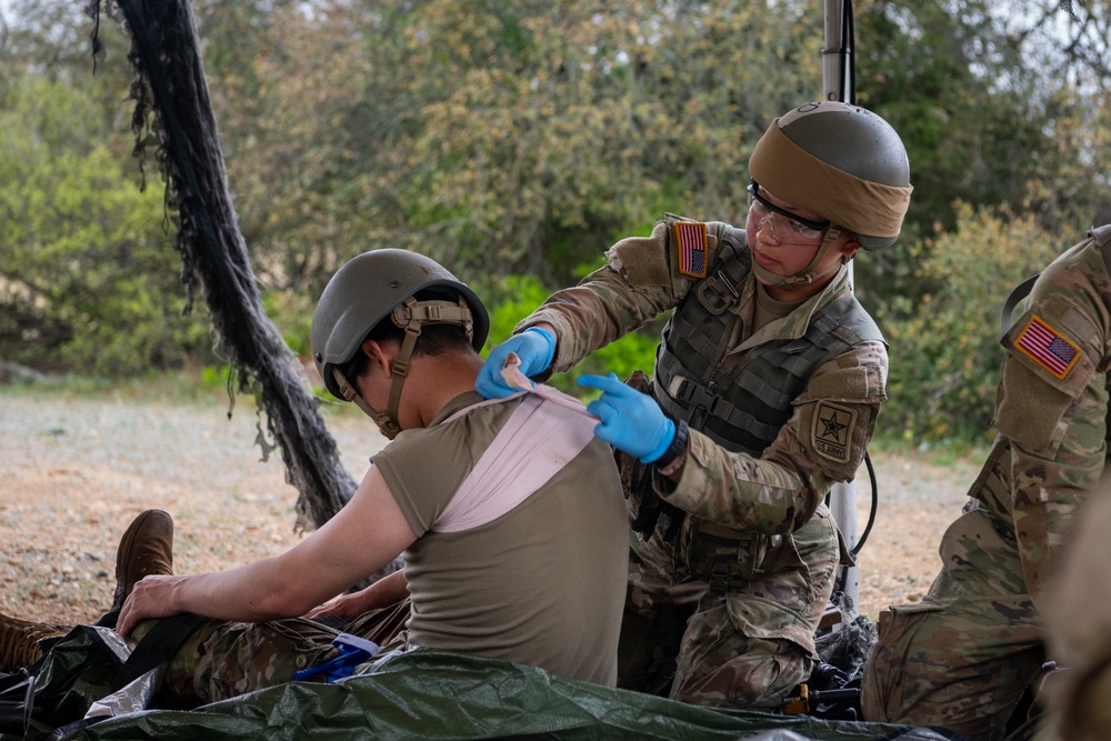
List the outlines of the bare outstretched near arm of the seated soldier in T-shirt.
{"label": "bare outstretched near arm of the seated soldier in T-shirt", "polygon": [[289,551],[217,573],[148,577],[128,597],[117,631],[180,612],[236,621],[293,618],[381,569],[417,540],[371,468],[351,501]]}

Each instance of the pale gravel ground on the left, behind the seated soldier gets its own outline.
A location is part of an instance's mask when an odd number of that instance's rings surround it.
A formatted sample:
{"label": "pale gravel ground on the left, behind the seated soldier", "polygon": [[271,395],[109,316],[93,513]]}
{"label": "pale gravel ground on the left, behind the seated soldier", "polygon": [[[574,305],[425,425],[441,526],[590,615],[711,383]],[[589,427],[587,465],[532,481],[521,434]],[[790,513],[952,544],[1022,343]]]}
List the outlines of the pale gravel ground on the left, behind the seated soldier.
{"label": "pale gravel ground on the left, behind the seated soldier", "polygon": [[[0,388],[0,612],[70,623],[112,601],[116,550],[132,518],[174,519],[174,570],[219,571],[296,544],[297,491],[277,452],[261,462],[254,402],[56,397]],[[344,410],[348,411],[348,410]],[[361,478],[384,439],[329,414]]]}

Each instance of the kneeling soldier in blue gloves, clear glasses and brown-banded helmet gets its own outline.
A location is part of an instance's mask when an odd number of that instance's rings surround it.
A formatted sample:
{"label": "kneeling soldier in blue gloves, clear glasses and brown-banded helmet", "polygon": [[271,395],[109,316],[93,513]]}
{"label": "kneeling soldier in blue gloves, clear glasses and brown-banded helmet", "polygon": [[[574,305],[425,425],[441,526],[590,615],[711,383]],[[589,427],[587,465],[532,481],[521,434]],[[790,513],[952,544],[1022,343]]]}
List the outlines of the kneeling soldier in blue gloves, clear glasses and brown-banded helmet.
{"label": "kneeling soldier in blue gloves, clear glasses and brown-banded helmet", "polygon": [[[851,480],[885,398],[887,347],[848,262],[899,234],[907,151],[880,117],[810,103],[749,161],[744,229],[668,216],[550,297],[490,353],[486,397],[674,309],[655,378],[600,389],[595,434],[618,449],[632,538],[619,685],[700,703],[778,708],[811,673],[833,589],[823,503]],[[843,549],[841,549],[843,550]]]}

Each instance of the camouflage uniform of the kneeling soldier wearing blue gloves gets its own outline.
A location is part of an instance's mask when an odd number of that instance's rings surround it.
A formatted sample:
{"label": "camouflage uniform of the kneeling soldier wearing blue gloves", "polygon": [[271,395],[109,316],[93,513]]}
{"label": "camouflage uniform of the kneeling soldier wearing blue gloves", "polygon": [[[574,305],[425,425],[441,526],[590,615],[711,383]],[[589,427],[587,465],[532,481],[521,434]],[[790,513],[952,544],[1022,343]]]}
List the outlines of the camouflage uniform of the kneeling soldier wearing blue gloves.
{"label": "camouflage uniform of the kneeling soldier wearing blue gloves", "polygon": [[[704,252],[684,263],[677,221],[669,216],[651,237],[617,243],[607,267],[553,294],[514,331],[553,326],[559,343],[551,370],[564,371],[669,309],[698,300],[721,263],[748,263],[743,230],[722,222],[705,224]],[[719,260],[728,244],[733,257]],[[854,302],[842,267],[822,292],[753,332],[751,271],[729,288],[737,296],[729,309],[737,321],[725,336],[725,352],[711,363],[712,372],[721,373],[721,397],[738,369],[761,351],[804,346],[800,338],[815,317],[839,299]],[[680,340],[689,338],[677,337],[673,322],[662,340],[665,351],[677,348],[679,354],[689,347]],[[670,683],[670,695],[688,702],[777,708],[808,679],[817,658],[814,632],[844,552],[823,499],[834,481],[855,474],[885,398],[885,377],[881,339],[848,347],[802,380],[785,421],[777,421],[770,444],[755,451],[740,452],[744,445],[720,435],[715,442],[689,419],[689,452],[678,484],[619,454],[634,530],[645,502],[662,501],[654,523],[632,538],[619,685],[664,693]],[[654,393],[661,405],[669,401],[662,389]],[[765,420],[758,413],[755,421]]]}

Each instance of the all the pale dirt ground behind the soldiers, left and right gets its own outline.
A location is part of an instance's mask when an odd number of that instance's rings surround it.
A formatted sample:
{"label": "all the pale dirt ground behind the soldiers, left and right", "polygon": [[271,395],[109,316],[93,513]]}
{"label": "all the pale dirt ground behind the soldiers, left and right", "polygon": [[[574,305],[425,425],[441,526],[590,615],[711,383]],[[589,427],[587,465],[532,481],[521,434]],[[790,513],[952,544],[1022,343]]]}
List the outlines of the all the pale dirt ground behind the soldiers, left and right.
{"label": "all the pale dirt ground behind the soldiers, left and right", "polygon": [[[0,387],[0,612],[88,622],[111,604],[116,550],[148,508],[174,518],[178,573],[229,569],[280,552],[297,492],[279,458],[261,462],[253,400],[189,403],[119,393],[69,398]],[[326,411],[341,460],[361,478],[384,444],[364,419]],[[875,453],[879,508],[860,553],[859,607],[872,619],[918,601],[938,570],[938,541],[964,503],[978,460]],[[857,481],[859,528],[870,484]]]}

